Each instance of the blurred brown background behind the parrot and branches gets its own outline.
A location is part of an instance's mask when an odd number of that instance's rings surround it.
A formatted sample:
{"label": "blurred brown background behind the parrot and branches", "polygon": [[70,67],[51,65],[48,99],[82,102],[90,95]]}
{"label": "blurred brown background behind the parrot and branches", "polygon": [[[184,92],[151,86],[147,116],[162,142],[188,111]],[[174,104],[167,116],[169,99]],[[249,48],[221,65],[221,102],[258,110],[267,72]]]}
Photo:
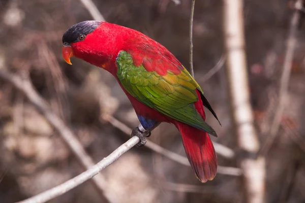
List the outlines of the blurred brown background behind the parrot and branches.
{"label": "blurred brown background behind the parrot and branches", "polygon": [[[143,32],[189,67],[191,0],[175,2],[94,1],[106,21]],[[266,140],[279,96],[293,4],[288,0],[246,0],[242,8],[251,105],[260,143]],[[222,123],[220,126],[207,112],[207,122],[219,136],[211,139],[234,152],[219,154],[219,165],[238,168],[242,153],[230,116],[223,11],[221,0],[196,1],[194,70]],[[72,58],[72,66],[62,59],[63,33],[77,22],[92,19],[81,1],[0,0],[0,69],[21,78],[28,76],[52,112],[98,162],[129,139],[105,115],[130,128],[139,122],[109,73],[76,58]],[[264,154],[265,186],[260,189],[266,202],[305,202],[303,33],[300,21],[284,113]],[[150,141],[185,156],[173,125],[161,124],[152,134]],[[60,133],[23,93],[0,79],[0,202],[31,197],[83,171]],[[202,184],[191,167],[146,147],[132,148],[101,174],[106,184],[103,195],[87,181],[48,202],[244,202],[241,176],[219,173]]]}

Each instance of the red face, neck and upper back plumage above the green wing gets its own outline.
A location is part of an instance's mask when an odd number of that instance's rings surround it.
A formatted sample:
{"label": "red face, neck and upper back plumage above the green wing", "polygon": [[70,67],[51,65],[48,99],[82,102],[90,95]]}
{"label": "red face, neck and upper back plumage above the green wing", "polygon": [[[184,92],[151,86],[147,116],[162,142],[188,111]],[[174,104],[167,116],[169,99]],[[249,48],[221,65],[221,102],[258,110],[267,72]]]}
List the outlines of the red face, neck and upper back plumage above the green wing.
{"label": "red face, neck and upper back plumage above the green wing", "polygon": [[[103,67],[116,77],[115,58],[119,51],[128,50],[136,66],[144,62],[147,71],[165,75],[167,71],[179,74],[181,63],[164,46],[143,33],[103,22],[84,41],[71,43],[73,54],[88,63]],[[147,58],[149,56],[149,58]]]}

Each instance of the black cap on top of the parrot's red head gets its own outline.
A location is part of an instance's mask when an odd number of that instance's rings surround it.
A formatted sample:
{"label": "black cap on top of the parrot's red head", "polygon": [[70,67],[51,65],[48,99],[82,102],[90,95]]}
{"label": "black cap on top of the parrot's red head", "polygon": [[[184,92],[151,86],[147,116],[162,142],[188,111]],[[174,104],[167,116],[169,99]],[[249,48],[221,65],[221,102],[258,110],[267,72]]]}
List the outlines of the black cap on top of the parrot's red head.
{"label": "black cap on top of the parrot's red head", "polygon": [[69,27],[69,29],[64,33],[63,44],[69,45],[71,42],[78,42],[81,35],[86,36],[88,33],[93,32],[97,26],[102,22],[96,20],[87,20],[79,22],[75,25]]}

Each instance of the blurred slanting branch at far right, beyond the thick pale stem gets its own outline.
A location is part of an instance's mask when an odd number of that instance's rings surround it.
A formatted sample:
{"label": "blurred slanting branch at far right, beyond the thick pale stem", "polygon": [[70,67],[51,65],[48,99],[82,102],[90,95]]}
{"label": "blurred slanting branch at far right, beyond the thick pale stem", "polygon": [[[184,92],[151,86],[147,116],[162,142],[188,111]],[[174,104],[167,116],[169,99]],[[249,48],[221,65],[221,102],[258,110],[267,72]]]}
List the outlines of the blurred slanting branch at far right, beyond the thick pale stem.
{"label": "blurred slanting branch at far right, beyond the thick pale stem", "polygon": [[288,92],[288,85],[289,85],[289,79],[290,79],[290,73],[291,73],[291,65],[296,45],[296,38],[297,38],[297,29],[298,24],[301,17],[301,9],[303,8],[303,0],[297,0],[295,2],[295,11],[293,13],[293,16],[291,18],[290,22],[290,29],[288,34],[288,40],[287,40],[287,48],[284,58],[284,64],[283,64],[283,73],[281,76],[281,83],[280,83],[280,91],[279,91],[279,99],[278,104],[276,106],[275,115],[273,117],[271,126],[269,128],[269,132],[267,133],[267,139],[262,146],[260,150],[260,154],[266,154],[268,150],[270,149],[273,141],[275,140],[277,133],[280,128],[282,114],[284,112],[285,108],[285,98],[287,96]]}

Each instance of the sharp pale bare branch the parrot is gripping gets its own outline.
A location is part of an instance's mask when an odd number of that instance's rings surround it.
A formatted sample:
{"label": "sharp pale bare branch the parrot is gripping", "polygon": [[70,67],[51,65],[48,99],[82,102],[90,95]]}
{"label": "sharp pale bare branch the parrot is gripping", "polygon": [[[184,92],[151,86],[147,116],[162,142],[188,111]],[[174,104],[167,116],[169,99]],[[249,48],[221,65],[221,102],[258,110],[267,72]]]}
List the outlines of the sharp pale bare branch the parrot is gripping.
{"label": "sharp pale bare branch the parrot is gripping", "polygon": [[50,199],[53,199],[59,195],[65,194],[69,190],[75,188],[76,186],[82,184],[83,182],[93,178],[97,175],[100,171],[102,171],[105,167],[113,163],[116,159],[118,159],[121,155],[125,152],[130,150],[134,147],[137,143],[139,143],[140,139],[138,137],[132,137],[126,143],[118,147],[114,150],[109,156],[105,157],[103,160],[98,162],[96,165],[89,168],[89,170],[81,173],[80,175],[76,176],[68,180],[67,182],[60,184],[52,189],[44,191],[34,197],[28,198],[23,201],[19,201],[19,203],[42,203],[46,202]]}

